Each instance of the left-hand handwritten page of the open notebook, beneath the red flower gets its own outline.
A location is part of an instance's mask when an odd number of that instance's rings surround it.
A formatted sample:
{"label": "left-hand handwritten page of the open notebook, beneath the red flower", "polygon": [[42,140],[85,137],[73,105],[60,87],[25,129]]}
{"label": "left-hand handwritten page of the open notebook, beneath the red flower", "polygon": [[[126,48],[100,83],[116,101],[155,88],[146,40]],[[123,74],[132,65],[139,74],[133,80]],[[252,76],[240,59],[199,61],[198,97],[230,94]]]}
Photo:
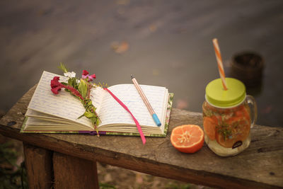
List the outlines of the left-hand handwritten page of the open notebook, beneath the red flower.
{"label": "left-hand handwritten page of the open notebook, beneath the red flower", "polygon": [[[42,77],[37,84],[37,88],[35,89],[35,93],[33,94],[33,98],[28,105],[28,108],[41,113],[54,115],[59,118],[79,122],[92,128],[93,126],[91,125],[91,121],[87,118],[82,117],[80,119],[77,119],[85,112],[85,109],[83,108],[83,105],[81,104],[79,99],[71,96],[70,93],[64,91],[64,88],[62,88],[62,91],[60,91],[57,95],[52,93],[52,91],[50,90],[50,81],[54,76],[59,75],[52,74],[47,71],[43,72]],[[60,82],[67,81],[66,77],[59,77]],[[96,105],[99,105],[100,102],[101,101],[96,98]]]}

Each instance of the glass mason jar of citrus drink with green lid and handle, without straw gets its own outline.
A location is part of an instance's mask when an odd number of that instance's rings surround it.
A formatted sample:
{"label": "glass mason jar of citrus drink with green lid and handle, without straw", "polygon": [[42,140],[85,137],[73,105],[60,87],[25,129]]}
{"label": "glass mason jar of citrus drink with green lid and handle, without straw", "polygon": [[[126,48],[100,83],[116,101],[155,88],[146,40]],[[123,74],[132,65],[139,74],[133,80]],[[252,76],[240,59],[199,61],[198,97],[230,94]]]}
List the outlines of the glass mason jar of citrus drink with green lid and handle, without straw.
{"label": "glass mason jar of citrus drink with green lid and handle, without straw", "polygon": [[245,85],[226,78],[209,82],[202,104],[204,141],[219,156],[234,156],[250,145],[250,128],[257,118],[253,96],[246,95]]}

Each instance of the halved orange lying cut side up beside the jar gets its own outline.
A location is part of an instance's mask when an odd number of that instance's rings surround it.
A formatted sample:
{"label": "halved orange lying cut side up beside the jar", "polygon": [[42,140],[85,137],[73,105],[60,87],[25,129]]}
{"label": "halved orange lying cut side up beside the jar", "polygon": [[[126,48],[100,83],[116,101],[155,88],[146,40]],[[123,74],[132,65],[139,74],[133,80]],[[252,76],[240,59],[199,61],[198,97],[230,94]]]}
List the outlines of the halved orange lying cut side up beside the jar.
{"label": "halved orange lying cut side up beside the jar", "polygon": [[175,149],[194,153],[204,144],[204,132],[198,125],[180,125],[172,130],[170,140]]}

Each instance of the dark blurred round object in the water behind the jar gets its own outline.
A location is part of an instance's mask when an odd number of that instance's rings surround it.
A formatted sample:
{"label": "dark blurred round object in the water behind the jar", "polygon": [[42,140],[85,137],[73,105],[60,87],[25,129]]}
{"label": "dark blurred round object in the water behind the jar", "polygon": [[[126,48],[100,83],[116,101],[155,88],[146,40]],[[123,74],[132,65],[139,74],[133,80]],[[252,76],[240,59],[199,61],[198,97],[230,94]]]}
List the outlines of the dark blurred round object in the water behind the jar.
{"label": "dark blurred round object in the water behind the jar", "polygon": [[254,52],[241,52],[232,58],[231,76],[246,86],[258,86],[262,83],[264,61]]}

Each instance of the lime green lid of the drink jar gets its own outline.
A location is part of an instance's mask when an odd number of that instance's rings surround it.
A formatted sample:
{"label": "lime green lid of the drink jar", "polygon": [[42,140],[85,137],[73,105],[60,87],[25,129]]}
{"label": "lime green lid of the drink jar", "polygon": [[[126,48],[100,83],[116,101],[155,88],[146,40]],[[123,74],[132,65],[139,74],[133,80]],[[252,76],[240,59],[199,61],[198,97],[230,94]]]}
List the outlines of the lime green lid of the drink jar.
{"label": "lime green lid of the drink jar", "polygon": [[226,78],[225,91],[221,79],[214,79],[205,88],[205,98],[212,105],[220,108],[233,107],[246,98],[246,87],[238,79]]}

